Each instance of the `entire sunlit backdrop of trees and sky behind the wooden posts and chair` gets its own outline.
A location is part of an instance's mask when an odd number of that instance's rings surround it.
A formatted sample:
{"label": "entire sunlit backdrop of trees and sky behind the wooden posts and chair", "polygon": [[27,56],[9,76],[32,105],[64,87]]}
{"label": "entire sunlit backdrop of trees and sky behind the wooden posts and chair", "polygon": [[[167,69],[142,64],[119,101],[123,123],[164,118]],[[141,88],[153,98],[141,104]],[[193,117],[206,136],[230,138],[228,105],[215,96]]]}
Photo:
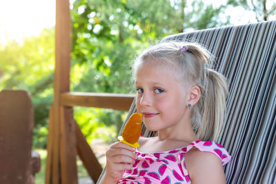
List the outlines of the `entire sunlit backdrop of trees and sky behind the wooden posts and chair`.
{"label": "entire sunlit backdrop of trees and sky behind the wooden posts and chair", "polygon": [[[252,5],[249,4],[249,8],[245,10],[242,6],[226,6],[228,1],[230,0],[186,0],[188,3],[184,13],[190,18],[181,19],[183,9],[179,8],[179,2],[183,1],[180,0],[70,0],[70,90],[131,93],[132,84],[131,80],[126,80],[130,78],[126,69],[130,65],[129,61],[150,42],[162,39],[168,34],[182,32],[183,29],[188,32],[258,21]],[[248,3],[250,2],[253,1],[248,0]],[[268,9],[273,6],[276,9],[275,0],[267,2]],[[0,91],[22,89],[28,90],[32,96],[32,144],[34,150],[38,150],[41,155],[41,172],[36,175],[37,184],[44,181],[48,112],[54,91],[55,3],[56,0],[0,1]],[[127,3],[129,7],[125,8]],[[152,3],[155,3],[154,6]],[[162,11],[158,14],[156,10],[160,3]],[[204,7],[198,8],[200,3]],[[206,12],[212,13],[221,5],[226,8],[222,8],[212,19],[204,19],[204,11],[210,4],[213,8]],[[85,16],[82,16],[83,13],[86,13]],[[262,21],[262,16],[259,18]],[[275,11],[270,14],[268,20],[276,20]],[[95,145],[92,141],[96,139],[103,140],[101,145],[115,141],[117,132],[126,119],[126,113],[97,108],[74,108],[75,120],[91,145]],[[100,162],[104,164],[104,161],[103,152]],[[87,177],[88,174],[81,167],[81,163],[78,161],[77,164],[78,176]]]}

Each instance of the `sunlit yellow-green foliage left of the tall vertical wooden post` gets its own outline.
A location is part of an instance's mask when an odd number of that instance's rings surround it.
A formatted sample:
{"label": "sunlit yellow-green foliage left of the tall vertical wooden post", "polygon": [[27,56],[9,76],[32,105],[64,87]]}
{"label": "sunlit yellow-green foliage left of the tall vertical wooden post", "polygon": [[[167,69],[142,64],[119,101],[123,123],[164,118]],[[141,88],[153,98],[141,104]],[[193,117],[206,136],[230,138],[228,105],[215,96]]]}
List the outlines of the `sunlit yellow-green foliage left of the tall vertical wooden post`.
{"label": "sunlit yellow-green foliage left of the tall vertical wooden post", "polygon": [[22,44],[10,41],[0,49],[0,90],[28,90],[34,105],[34,146],[45,147],[54,81],[55,30],[45,29]]}

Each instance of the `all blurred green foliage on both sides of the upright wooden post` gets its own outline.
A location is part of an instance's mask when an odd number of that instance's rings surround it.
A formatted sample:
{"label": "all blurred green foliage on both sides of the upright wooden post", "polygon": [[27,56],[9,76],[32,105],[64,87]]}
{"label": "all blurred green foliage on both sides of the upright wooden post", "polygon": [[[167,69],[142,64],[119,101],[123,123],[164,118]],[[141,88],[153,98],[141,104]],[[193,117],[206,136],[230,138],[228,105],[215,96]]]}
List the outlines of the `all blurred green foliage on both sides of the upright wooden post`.
{"label": "all blurred green foliage on both sides of the upright wooden post", "polygon": [[[76,0],[71,8],[70,89],[75,92],[134,93],[131,63],[141,50],[170,34],[227,23],[217,18],[223,6],[204,1]],[[0,90],[23,89],[32,95],[34,147],[46,147],[54,61],[54,28],[0,48]],[[88,142],[96,137],[114,141],[125,117],[121,111],[75,108]]]}

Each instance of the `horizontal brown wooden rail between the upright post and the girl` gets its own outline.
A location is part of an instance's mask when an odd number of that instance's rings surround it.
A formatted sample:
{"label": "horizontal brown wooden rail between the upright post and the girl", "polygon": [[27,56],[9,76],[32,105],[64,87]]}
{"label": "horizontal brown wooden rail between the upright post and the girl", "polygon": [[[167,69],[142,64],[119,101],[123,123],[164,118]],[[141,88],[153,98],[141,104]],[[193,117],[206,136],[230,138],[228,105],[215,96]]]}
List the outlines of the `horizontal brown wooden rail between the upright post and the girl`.
{"label": "horizontal brown wooden rail between the upright post and the girl", "polygon": [[84,106],[129,110],[134,94],[110,94],[92,92],[66,92],[61,94],[61,104],[65,106]]}

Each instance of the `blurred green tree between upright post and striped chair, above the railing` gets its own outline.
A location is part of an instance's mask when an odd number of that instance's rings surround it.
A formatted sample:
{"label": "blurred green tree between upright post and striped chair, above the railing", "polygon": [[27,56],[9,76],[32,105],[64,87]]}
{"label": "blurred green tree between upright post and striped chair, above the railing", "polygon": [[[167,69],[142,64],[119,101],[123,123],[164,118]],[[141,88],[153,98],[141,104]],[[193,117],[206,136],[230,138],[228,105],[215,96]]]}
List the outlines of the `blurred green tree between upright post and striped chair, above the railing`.
{"label": "blurred green tree between upright post and striped chair, above the railing", "polygon": [[129,93],[130,61],[137,53],[170,34],[225,25],[218,19],[223,8],[203,1],[76,0],[72,63],[81,74],[73,90]]}

